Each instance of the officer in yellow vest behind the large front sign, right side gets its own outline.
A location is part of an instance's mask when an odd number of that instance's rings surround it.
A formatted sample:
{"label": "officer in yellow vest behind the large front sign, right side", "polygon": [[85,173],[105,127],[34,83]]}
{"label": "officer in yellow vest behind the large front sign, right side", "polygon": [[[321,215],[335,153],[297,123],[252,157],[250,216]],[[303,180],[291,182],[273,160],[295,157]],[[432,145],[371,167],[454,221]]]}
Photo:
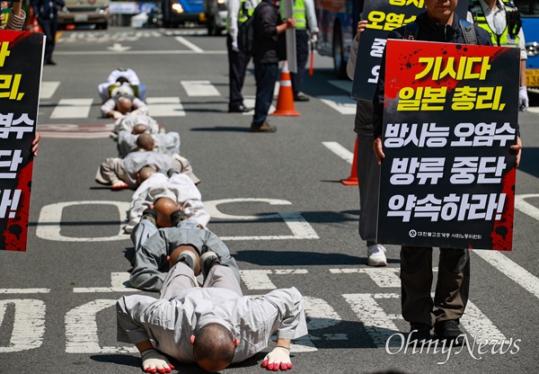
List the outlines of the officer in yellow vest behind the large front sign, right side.
{"label": "officer in yellow vest behind the large front sign, right side", "polygon": [[520,49],[518,108],[526,111],[529,106],[526,92],[526,41],[517,7],[512,0],[470,0],[469,9],[467,20],[489,32],[493,45]]}

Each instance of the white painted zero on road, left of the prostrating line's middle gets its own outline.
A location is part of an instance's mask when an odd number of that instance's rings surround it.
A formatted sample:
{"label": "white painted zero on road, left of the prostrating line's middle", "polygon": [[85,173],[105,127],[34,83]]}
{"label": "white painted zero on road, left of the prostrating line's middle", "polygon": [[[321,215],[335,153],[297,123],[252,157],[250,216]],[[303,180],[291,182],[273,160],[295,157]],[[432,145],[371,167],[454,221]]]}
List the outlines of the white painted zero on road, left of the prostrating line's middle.
{"label": "white painted zero on road, left of the prostrating line's middle", "polygon": [[119,217],[124,217],[129,208],[127,201],[68,201],[49,204],[41,208],[38,226],[36,227],[36,236],[41,239],[53,240],[57,242],[108,242],[114,240],[128,240],[129,236],[123,234],[121,228],[123,224],[119,222],[117,236],[97,236],[97,237],[72,237],[61,234],[60,223],[62,221],[62,210],[75,205],[114,205],[119,210]]}

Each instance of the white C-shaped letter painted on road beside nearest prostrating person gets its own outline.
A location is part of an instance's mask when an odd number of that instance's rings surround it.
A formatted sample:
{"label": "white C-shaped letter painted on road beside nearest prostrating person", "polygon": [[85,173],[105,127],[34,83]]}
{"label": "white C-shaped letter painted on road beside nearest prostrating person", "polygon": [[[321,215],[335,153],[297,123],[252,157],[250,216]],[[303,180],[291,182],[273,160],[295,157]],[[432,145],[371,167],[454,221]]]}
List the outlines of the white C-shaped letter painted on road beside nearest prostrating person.
{"label": "white C-shaped letter painted on road beside nearest prostrating person", "polygon": [[102,347],[97,334],[96,315],[116,305],[116,299],[97,299],[66,313],[66,353],[135,353],[135,346]]}

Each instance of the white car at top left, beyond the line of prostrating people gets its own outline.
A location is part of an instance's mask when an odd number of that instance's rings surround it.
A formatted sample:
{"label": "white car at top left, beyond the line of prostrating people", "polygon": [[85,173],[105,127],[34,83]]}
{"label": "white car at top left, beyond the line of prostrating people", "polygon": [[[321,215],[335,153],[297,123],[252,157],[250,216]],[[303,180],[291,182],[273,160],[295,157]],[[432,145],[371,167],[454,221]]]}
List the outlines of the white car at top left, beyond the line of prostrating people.
{"label": "white car at top left, beyond the line of prostrating people", "polygon": [[86,3],[81,0],[76,4],[66,2],[66,6],[58,12],[58,29],[66,29],[69,25],[75,28],[84,26],[106,29],[109,26],[109,4],[92,5],[89,1]]}

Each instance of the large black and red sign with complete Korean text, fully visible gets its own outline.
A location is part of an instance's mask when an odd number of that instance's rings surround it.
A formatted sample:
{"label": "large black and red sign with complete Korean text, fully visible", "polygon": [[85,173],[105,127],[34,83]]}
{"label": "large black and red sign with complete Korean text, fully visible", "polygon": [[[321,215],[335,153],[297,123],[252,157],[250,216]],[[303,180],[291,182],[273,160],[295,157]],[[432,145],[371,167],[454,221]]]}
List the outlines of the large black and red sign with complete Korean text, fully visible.
{"label": "large black and red sign with complete Korean text, fully visible", "polygon": [[387,40],[377,241],[510,251],[518,49]]}

